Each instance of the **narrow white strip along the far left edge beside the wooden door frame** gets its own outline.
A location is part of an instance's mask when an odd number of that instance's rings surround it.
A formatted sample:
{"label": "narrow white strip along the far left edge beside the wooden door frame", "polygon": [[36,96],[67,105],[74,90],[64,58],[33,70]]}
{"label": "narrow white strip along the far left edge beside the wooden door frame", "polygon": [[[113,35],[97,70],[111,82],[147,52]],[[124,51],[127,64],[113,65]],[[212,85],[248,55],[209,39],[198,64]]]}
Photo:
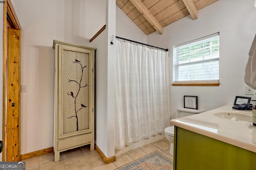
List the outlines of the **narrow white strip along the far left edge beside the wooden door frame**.
{"label": "narrow white strip along the far left edge beside the wooden door frame", "polygon": [[[3,39],[3,14],[4,14],[4,5],[0,4],[0,39]],[[0,110],[2,113],[3,110],[3,41],[0,41]],[[2,141],[3,133],[2,133],[2,117],[0,114],[0,141]],[[0,154],[0,161],[2,161],[2,153]]]}

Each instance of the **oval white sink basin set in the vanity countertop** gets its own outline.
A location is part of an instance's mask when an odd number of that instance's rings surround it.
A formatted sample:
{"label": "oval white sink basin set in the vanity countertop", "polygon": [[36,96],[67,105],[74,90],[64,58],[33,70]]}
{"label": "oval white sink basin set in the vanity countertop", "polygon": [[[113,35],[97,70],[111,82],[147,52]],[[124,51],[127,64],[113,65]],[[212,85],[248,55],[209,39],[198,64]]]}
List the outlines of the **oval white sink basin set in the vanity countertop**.
{"label": "oval white sink basin set in the vanity countertop", "polygon": [[230,119],[234,121],[252,121],[252,115],[235,111],[216,111],[213,113],[213,115],[216,117]]}

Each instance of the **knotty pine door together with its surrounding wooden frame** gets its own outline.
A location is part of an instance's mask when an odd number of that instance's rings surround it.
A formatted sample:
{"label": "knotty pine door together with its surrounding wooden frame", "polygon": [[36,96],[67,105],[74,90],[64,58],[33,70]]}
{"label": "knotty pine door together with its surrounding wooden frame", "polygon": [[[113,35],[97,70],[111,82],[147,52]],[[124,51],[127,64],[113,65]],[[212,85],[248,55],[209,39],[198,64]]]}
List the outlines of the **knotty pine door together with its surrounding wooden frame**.
{"label": "knotty pine door together with its surrounding wooden frame", "polygon": [[21,27],[10,0],[4,4],[2,161],[20,160]]}

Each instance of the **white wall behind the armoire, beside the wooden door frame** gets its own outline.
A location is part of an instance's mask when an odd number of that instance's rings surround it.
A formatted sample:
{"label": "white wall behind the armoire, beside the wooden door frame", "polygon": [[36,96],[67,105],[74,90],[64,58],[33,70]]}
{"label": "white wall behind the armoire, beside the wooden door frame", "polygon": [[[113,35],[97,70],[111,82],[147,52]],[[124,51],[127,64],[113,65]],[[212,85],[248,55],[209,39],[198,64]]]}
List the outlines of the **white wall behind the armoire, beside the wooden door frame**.
{"label": "white wall behind the armoire, beside the wooden door frame", "polygon": [[96,47],[89,39],[106,23],[106,3],[12,0],[12,4],[22,26],[21,84],[27,92],[21,94],[21,154],[25,154],[53,146],[53,40]]}

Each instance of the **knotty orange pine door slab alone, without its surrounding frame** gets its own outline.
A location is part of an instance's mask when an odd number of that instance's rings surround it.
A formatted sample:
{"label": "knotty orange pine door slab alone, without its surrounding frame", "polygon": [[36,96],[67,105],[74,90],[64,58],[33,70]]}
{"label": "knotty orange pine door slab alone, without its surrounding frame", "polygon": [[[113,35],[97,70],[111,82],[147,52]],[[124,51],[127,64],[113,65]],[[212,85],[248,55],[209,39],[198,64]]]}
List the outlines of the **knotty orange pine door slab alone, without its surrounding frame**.
{"label": "knotty orange pine door slab alone, without its surrounding frame", "polygon": [[7,161],[19,161],[20,155],[20,31],[8,28],[7,59]]}

